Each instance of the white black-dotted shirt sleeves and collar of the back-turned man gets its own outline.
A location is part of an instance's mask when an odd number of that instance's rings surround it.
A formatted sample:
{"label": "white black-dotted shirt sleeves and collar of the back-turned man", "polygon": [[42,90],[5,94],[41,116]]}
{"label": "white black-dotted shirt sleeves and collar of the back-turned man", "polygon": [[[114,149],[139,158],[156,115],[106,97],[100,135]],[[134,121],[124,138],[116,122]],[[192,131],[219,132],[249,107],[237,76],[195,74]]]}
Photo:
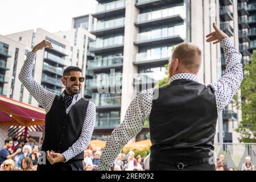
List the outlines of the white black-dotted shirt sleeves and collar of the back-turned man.
{"label": "white black-dotted shirt sleeves and collar of the back-turned man", "polygon": [[[216,83],[208,85],[214,90],[218,113],[220,113],[232,100],[234,94],[236,94],[239,89],[243,78],[241,53],[237,51],[232,40],[229,38],[223,39],[221,41],[221,46],[224,48],[225,52],[225,74]],[[172,76],[170,82],[180,79],[198,80],[196,75],[180,73]],[[125,146],[131,138],[137,136],[143,129],[144,121],[148,120],[150,116],[153,92],[154,89],[144,90],[131,102],[126,111],[125,119],[121,124],[115,127],[106,143],[98,170],[109,170],[122,147]]]}

